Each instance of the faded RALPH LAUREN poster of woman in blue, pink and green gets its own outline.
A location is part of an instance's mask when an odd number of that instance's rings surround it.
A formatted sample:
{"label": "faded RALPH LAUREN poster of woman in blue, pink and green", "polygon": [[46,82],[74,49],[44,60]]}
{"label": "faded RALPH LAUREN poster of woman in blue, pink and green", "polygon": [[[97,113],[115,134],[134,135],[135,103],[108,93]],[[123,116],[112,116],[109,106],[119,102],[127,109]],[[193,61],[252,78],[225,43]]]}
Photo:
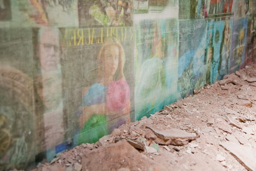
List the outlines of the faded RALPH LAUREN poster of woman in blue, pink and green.
{"label": "faded RALPH LAUREN poster of woman in blue, pink and green", "polygon": [[66,136],[75,136],[74,144],[93,143],[134,118],[133,28],[68,28],[62,33]]}

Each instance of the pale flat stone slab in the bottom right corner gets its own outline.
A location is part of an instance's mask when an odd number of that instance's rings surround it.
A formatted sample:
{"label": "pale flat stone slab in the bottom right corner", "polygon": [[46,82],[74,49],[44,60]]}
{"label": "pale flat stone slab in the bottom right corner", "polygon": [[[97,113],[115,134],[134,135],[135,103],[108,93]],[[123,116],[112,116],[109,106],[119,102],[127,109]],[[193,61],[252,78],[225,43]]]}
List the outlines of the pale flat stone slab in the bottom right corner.
{"label": "pale flat stone slab in the bottom right corner", "polygon": [[220,146],[229,151],[247,170],[256,171],[255,149],[237,145],[232,142],[220,143]]}

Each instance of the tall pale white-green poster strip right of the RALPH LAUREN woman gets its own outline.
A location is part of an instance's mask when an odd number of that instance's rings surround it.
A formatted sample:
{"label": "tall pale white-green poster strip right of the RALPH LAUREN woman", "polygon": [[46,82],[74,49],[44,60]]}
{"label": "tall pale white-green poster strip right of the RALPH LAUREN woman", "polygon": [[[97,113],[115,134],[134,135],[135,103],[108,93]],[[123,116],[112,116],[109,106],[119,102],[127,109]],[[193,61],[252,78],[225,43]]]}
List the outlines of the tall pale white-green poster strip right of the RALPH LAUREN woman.
{"label": "tall pale white-green poster strip right of the RALPH LAUREN woman", "polygon": [[134,14],[136,120],[180,98],[177,4],[174,0],[149,1],[148,11]]}

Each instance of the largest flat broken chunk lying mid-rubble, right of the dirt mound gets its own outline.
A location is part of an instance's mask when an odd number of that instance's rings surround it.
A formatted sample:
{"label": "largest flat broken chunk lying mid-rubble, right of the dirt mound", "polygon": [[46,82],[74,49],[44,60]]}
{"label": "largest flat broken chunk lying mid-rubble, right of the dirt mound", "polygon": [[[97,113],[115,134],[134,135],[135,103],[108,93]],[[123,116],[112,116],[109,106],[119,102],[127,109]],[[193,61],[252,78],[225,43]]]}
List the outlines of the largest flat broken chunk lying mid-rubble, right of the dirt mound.
{"label": "largest flat broken chunk lying mid-rubble, right of the dirt mound", "polygon": [[157,138],[154,141],[162,145],[171,144],[176,146],[184,146],[192,140],[197,139],[196,133],[189,133],[181,129],[172,128],[159,130],[153,126],[146,126],[146,128],[151,129],[157,135]]}

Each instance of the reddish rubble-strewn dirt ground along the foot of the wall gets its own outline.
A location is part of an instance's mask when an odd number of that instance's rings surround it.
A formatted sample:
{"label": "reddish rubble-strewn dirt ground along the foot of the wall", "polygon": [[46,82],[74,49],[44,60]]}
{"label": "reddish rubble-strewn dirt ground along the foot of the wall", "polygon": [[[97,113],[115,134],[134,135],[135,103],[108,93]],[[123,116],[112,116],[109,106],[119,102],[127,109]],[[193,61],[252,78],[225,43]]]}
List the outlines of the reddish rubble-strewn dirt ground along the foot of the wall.
{"label": "reddish rubble-strewn dirt ground along the foot of the wall", "polygon": [[33,171],[256,171],[256,64]]}

